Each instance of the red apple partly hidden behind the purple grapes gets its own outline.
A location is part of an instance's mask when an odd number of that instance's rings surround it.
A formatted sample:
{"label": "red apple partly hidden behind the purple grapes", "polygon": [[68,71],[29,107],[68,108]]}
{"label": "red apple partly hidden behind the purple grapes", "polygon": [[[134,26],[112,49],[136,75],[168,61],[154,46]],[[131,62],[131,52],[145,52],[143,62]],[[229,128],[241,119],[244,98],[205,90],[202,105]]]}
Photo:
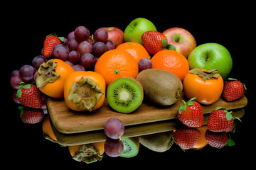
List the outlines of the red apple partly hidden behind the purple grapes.
{"label": "red apple partly hidden behind the purple grapes", "polygon": [[124,42],[124,32],[116,27],[105,27],[108,33],[108,39],[112,40],[118,46]]}

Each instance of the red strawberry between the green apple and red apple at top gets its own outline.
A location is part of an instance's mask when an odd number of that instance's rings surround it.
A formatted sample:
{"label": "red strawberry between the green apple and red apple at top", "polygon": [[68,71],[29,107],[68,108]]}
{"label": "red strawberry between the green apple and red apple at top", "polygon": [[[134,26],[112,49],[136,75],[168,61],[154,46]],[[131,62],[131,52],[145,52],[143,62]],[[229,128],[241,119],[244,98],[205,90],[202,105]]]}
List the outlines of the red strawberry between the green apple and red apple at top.
{"label": "red strawberry between the green apple and red apple at top", "polygon": [[174,50],[174,45],[168,45],[167,38],[163,33],[156,30],[149,30],[142,34],[142,43],[146,50],[155,55],[166,48]]}

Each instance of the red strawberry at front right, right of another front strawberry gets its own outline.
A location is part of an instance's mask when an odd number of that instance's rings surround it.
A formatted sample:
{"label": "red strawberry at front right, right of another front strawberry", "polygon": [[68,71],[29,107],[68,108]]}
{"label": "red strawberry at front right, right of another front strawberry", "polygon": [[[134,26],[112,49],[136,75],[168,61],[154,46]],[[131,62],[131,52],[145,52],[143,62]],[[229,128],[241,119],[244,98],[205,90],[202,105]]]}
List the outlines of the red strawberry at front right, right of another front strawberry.
{"label": "red strawberry at front right, right of another front strawberry", "polygon": [[228,112],[225,108],[217,107],[213,110],[208,118],[208,130],[213,132],[230,132],[233,130],[232,112]]}

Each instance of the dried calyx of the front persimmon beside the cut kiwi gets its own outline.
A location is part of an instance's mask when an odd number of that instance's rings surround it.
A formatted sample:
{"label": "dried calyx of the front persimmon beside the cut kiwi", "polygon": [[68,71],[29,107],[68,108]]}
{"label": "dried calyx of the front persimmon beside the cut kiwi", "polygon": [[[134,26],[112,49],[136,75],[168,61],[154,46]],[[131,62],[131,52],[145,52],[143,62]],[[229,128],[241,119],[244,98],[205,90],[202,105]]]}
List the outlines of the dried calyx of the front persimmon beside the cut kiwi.
{"label": "dried calyx of the front persimmon beside the cut kiwi", "polygon": [[103,95],[99,84],[89,78],[82,77],[70,87],[68,100],[84,111],[92,111]]}

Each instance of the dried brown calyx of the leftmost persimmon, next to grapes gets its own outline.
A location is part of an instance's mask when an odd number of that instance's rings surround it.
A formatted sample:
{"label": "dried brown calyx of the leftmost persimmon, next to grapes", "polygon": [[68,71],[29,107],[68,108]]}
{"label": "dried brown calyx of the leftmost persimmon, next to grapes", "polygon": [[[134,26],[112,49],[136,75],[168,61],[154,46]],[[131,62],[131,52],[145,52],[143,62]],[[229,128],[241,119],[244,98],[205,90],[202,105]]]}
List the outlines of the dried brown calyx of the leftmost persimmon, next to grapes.
{"label": "dried brown calyx of the leftmost persimmon, next to grapes", "polygon": [[48,62],[43,62],[38,69],[38,77],[36,78],[36,86],[41,88],[46,86],[48,83],[53,83],[56,79],[60,77],[60,74],[55,72],[57,67],[57,62],[49,60]]}

